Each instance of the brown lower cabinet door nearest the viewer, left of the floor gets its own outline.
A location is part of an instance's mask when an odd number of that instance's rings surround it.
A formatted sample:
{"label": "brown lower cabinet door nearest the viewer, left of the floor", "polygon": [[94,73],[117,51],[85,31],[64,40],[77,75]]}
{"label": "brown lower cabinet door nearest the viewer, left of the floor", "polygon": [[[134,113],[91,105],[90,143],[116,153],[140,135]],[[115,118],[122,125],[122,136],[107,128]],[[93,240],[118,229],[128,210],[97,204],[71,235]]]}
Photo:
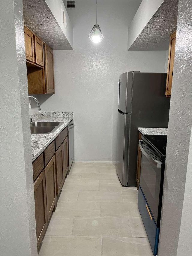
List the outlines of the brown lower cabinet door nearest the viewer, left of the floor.
{"label": "brown lower cabinet door nearest the viewer, left of the floor", "polygon": [[38,176],[34,182],[35,195],[35,219],[37,233],[37,247],[39,247],[43,239],[47,227],[47,203],[46,203],[46,187],[45,187],[45,171]]}

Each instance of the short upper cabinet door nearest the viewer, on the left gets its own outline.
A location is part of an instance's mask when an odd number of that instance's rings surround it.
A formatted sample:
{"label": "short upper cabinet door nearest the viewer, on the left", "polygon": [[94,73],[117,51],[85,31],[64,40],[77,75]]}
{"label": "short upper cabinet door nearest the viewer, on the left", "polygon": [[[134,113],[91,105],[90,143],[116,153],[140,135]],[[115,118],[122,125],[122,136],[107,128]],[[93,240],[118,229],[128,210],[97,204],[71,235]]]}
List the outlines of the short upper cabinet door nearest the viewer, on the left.
{"label": "short upper cabinet door nearest the viewer, on the left", "polygon": [[24,27],[24,35],[26,59],[35,62],[33,33],[27,27]]}

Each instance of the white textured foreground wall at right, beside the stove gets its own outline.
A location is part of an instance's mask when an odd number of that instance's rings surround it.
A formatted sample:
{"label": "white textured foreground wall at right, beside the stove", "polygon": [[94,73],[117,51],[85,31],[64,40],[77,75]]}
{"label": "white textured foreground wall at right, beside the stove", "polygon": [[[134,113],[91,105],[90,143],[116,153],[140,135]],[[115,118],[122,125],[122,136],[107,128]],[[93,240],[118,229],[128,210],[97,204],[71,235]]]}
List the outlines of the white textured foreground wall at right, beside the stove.
{"label": "white textured foreground wall at right, beside the stove", "polygon": [[192,251],[191,59],[192,2],[179,0],[158,256]]}

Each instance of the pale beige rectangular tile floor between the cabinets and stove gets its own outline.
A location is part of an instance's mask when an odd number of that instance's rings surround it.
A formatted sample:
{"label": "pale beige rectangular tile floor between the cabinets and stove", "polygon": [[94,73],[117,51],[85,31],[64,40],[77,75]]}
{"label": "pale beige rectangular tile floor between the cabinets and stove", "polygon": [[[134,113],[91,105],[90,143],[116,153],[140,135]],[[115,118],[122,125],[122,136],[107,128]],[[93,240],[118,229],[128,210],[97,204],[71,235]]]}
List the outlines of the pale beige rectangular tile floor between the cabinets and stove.
{"label": "pale beige rectangular tile floor between the cabinets and stove", "polygon": [[112,164],[73,163],[39,256],[153,256],[137,196]]}

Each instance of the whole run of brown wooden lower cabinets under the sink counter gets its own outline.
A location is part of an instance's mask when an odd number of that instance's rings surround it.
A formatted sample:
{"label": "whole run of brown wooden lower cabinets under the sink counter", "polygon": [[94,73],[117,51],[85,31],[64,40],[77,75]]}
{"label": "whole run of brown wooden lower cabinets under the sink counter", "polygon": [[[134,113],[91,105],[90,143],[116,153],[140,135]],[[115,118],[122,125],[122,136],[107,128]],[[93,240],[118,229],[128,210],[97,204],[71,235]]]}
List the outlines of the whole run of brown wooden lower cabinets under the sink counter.
{"label": "whole run of brown wooden lower cabinets under the sink counter", "polygon": [[[56,209],[57,195],[60,193],[67,176],[68,137],[66,137],[66,131],[67,129],[64,129],[33,162],[38,248],[44,237],[51,214]],[[60,146],[59,143],[61,143]],[[58,149],[55,152],[57,146]]]}

